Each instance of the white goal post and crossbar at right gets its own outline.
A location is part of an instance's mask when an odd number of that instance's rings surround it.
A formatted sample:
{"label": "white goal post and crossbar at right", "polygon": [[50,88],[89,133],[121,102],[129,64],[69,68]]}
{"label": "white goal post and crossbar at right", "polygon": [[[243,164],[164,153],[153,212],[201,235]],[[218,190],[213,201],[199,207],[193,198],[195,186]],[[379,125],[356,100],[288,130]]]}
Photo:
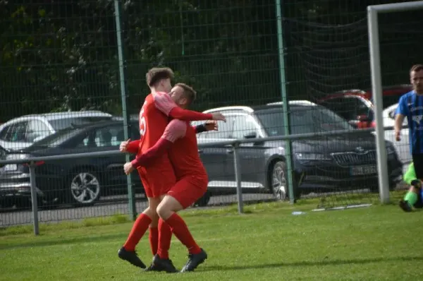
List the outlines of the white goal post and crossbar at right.
{"label": "white goal post and crossbar at right", "polygon": [[423,1],[367,6],[370,68],[372,70],[372,92],[376,121],[377,169],[379,175],[379,196],[381,203],[389,203],[389,179],[386,144],[384,138],[384,120],[382,117],[382,111],[384,109],[382,104],[381,58],[379,52],[379,25],[377,18],[379,13],[412,11],[422,8]]}

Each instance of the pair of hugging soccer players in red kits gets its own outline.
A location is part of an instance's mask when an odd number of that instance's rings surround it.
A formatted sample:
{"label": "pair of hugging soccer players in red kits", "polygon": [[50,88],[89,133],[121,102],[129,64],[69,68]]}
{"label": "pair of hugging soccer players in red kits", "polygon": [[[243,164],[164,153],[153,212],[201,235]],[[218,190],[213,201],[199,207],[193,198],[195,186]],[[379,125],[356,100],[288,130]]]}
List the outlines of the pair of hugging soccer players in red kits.
{"label": "pair of hugging soccer players in red kits", "polygon": [[151,93],[140,111],[141,138],[121,143],[120,149],[137,154],[135,160],[125,163],[124,171],[130,174],[137,169],[149,207],[135,220],[118,256],[145,268],[135,247],[149,228],[154,257],[146,270],[178,272],[168,257],[173,233],[188,249],[188,261],[181,271],[192,271],[204,262],[207,253],[197,245],[177,212],[195,203],[207,191],[207,173],[198,155],[195,133],[217,129],[217,124],[192,127],[188,121],[226,119],[220,113],[203,114],[186,109],[195,100],[196,92],[182,83],[172,88],[170,68],[152,68],[146,78]]}

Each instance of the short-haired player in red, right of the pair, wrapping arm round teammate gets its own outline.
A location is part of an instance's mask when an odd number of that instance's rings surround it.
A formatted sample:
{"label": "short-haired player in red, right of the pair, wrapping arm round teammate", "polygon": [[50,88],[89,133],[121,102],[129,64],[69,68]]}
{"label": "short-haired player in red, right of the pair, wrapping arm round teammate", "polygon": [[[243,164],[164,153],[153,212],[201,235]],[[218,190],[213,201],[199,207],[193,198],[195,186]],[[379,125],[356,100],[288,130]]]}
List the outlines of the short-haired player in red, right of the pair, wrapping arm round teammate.
{"label": "short-haired player in red, right of the pair, wrapping arm round teammate", "polygon": [[[195,91],[188,85],[176,84],[171,97],[180,107],[188,107],[195,99]],[[171,233],[162,229],[171,227],[173,234],[187,247],[189,258],[181,272],[192,271],[203,263],[207,253],[197,245],[183,219],[176,213],[188,208],[207,191],[208,177],[198,155],[195,129],[187,121],[173,119],[157,143],[137,155],[133,160],[135,167],[150,167],[158,163],[162,155],[168,154],[176,176],[176,184],[169,189],[157,207],[159,220],[159,249],[153,258],[154,265],[174,272],[168,258]]]}

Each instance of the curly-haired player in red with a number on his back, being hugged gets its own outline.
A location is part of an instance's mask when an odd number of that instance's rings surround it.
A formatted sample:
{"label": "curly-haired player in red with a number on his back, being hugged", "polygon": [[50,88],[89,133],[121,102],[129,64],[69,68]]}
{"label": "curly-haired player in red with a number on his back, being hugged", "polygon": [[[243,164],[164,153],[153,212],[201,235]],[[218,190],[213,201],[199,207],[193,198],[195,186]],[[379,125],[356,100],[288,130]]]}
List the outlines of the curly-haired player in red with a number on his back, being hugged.
{"label": "curly-haired player in red with a number on his back, being hugged", "polygon": [[[148,71],[147,84],[152,93],[145,98],[145,102],[140,111],[140,140],[133,142],[127,141],[121,144],[121,151],[137,153],[142,155],[151,148],[161,137],[168,124],[168,118],[183,119],[189,121],[195,120],[224,120],[222,114],[203,114],[192,112],[178,107],[173,102],[167,92],[171,90],[171,78],[173,71],[170,68],[152,68]],[[124,165],[125,170],[131,170],[131,163]],[[159,232],[157,230],[159,217],[157,215],[157,205],[160,203],[161,196],[166,194],[168,189],[176,182],[173,167],[168,159],[168,155],[161,155],[154,165],[149,167],[139,167],[142,185],[149,201],[149,207],[137,217],[133,228],[130,231],[128,239],[123,247],[118,251],[119,258],[130,262],[131,264],[145,268],[140,258],[135,252],[135,247],[142,236],[149,230],[149,241],[153,255],[157,253]],[[171,235],[171,229],[164,229],[163,232]]]}

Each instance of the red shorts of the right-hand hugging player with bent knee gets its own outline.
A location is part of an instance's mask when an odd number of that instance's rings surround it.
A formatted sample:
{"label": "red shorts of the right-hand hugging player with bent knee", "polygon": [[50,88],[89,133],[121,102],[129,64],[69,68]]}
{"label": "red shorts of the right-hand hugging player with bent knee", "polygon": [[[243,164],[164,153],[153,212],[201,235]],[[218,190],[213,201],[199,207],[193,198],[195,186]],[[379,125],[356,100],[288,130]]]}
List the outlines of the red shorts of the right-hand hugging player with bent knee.
{"label": "red shorts of the right-hand hugging player with bent knee", "polygon": [[185,209],[204,195],[208,184],[207,176],[186,176],[176,181],[167,194],[175,198]]}

